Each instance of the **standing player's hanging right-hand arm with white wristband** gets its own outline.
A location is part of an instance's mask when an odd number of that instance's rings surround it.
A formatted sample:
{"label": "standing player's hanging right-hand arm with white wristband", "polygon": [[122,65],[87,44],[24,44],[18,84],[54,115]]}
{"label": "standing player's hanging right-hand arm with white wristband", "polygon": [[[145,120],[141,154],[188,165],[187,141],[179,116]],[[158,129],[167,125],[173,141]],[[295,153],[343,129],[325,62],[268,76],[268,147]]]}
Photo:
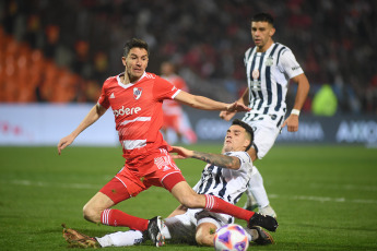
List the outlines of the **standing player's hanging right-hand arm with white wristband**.
{"label": "standing player's hanging right-hand arm with white wristband", "polygon": [[288,132],[296,132],[298,130],[298,115],[299,115],[299,111],[303,108],[305,99],[309,93],[310,85],[309,85],[309,81],[307,80],[307,77],[304,73],[293,77],[292,80],[293,80],[293,82],[298,84],[295,104],[293,106],[293,110],[295,110],[295,112],[292,112],[286,118],[282,128],[287,125]]}

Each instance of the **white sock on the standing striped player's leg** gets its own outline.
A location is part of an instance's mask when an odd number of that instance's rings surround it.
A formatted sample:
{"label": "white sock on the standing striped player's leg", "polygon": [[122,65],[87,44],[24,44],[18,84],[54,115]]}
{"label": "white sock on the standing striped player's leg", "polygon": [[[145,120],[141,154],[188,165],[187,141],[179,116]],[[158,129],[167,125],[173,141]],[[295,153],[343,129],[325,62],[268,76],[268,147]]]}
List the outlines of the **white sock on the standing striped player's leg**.
{"label": "white sock on the standing striped player's leg", "polygon": [[247,188],[247,194],[250,193],[256,199],[259,208],[262,208],[270,204],[263,186],[263,178],[256,166],[252,167],[251,178]]}

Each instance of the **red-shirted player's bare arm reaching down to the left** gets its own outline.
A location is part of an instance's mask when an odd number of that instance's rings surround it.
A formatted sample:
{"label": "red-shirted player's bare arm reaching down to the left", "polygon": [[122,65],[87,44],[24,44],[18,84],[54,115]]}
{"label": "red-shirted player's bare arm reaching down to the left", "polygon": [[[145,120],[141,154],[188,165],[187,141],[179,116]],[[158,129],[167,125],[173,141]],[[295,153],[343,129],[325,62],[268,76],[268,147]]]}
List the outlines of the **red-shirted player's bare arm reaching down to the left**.
{"label": "red-shirted player's bare arm reaching down to the left", "polygon": [[63,148],[66,148],[67,146],[69,146],[70,144],[73,143],[74,139],[82,132],[84,131],[86,128],[89,128],[92,123],[94,123],[95,121],[97,121],[101,116],[103,116],[106,112],[106,109],[99,105],[95,105],[85,116],[85,118],[81,121],[81,123],[79,124],[79,127],[71,132],[69,135],[62,138],[59,141],[58,144],[58,153],[59,155],[61,154],[61,151]]}

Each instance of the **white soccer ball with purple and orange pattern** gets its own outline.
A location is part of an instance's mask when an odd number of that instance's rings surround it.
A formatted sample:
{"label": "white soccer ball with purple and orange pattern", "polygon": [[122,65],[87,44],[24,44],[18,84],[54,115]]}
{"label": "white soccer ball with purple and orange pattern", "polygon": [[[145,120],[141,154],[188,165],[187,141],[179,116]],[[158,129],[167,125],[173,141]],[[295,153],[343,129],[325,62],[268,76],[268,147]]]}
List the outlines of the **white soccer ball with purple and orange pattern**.
{"label": "white soccer ball with purple and orange pattern", "polygon": [[245,229],[237,224],[228,224],[219,228],[213,243],[216,251],[245,251],[249,247]]}

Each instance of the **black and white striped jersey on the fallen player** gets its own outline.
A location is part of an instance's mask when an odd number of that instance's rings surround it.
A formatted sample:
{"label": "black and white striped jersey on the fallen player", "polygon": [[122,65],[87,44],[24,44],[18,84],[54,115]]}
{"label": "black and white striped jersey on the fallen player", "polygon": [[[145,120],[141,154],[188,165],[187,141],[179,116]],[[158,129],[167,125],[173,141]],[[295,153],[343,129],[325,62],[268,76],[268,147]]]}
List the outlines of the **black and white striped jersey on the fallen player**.
{"label": "black and white striped jersey on the fallen player", "polygon": [[214,195],[236,204],[250,180],[252,162],[246,152],[228,152],[224,155],[239,158],[239,169],[233,170],[208,164],[193,190],[199,194]]}

